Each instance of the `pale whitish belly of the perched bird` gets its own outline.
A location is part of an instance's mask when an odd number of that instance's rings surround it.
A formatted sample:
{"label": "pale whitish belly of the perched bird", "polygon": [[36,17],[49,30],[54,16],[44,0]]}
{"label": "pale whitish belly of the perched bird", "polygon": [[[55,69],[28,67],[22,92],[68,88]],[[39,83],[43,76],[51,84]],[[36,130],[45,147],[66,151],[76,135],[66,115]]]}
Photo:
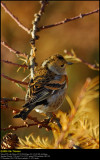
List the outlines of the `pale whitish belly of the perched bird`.
{"label": "pale whitish belly of the perched bird", "polygon": [[58,93],[51,95],[47,101],[48,101],[48,105],[39,105],[37,107],[34,108],[34,110],[36,112],[39,113],[46,113],[46,112],[54,112],[56,111],[63,103],[65,95],[66,95],[66,89],[67,87],[65,87],[64,89],[61,89]]}

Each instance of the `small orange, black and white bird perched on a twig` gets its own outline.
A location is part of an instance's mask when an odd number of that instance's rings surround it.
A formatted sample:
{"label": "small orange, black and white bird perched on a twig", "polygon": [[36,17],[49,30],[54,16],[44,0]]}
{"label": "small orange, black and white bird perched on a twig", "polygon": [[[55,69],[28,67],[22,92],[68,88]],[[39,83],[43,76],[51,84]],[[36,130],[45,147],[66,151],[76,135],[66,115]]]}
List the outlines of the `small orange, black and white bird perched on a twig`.
{"label": "small orange, black and white bird perched on a twig", "polygon": [[56,111],[66,95],[68,76],[67,62],[62,55],[54,55],[46,59],[34,73],[33,82],[29,85],[30,96],[23,110],[14,116],[25,120],[31,110],[48,114]]}

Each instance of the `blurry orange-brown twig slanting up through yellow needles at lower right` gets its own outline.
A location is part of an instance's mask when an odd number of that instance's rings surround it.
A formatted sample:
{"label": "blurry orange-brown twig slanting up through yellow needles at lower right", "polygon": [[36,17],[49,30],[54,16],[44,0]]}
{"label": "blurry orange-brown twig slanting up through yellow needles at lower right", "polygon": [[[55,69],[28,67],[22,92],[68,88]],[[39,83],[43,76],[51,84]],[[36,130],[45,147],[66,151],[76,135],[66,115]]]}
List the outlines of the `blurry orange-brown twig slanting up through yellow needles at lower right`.
{"label": "blurry orange-brown twig slanting up through yellow needles at lower right", "polygon": [[67,126],[66,126],[66,129],[61,132],[61,134],[60,134],[60,136],[59,136],[59,138],[58,138],[58,140],[57,140],[57,142],[56,142],[56,144],[55,144],[55,146],[54,146],[55,149],[59,146],[59,144],[60,144],[61,141],[63,140],[63,137],[64,137],[65,134],[68,132],[68,130],[69,130],[70,126],[71,126],[71,122],[72,122],[72,120],[74,119],[74,117],[75,117],[75,115],[76,115],[76,113],[77,113],[77,110],[78,110],[78,108],[79,108],[79,105],[80,105],[80,103],[81,103],[81,100],[84,98],[86,89],[87,89],[87,87],[89,86],[90,82],[91,82],[90,78],[87,78],[85,84],[83,85],[83,87],[82,87],[82,89],[81,89],[81,92],[80,92],[79,96],[77,97],[77,100],[76,100],[76,103],[75,103],[75,107],[74,107],[74,109],[73,109],[73,110],[74,110],[74,111],[73,111],[73,114],[71,114],[71,115],[69,116],[69,121],[68,121],[68,124],[67,124]]}

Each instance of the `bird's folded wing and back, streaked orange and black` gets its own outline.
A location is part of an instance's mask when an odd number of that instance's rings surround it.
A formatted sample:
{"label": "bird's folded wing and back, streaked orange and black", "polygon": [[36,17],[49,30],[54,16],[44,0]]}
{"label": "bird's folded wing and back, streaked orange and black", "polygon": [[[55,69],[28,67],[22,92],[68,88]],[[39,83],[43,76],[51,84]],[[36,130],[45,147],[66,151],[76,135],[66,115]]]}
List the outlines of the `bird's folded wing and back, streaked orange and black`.
{"label": "bird's folded wing and back, streaked orange and black", "polygon": [[31,98],[23,107],[28,107],[29,104],[42,104],[42,102],[52,94],[65,86],[65,76],[55,75],[48,70],[41,69],[35,74],[33,83],[30,84]]}

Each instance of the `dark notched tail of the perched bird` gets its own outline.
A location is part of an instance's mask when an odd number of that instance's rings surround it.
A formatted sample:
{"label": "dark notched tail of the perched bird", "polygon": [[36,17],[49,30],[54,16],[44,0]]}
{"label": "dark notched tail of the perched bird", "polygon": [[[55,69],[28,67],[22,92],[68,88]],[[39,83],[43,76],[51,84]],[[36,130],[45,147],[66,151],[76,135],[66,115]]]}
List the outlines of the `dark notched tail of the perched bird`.
{"label": "dark notched tail of the perched bird", "polygon": [[13,118],[22,118],[23,120],[25,120],[33,108],[34,106],[24,108],[19,114],[16,114]]}

